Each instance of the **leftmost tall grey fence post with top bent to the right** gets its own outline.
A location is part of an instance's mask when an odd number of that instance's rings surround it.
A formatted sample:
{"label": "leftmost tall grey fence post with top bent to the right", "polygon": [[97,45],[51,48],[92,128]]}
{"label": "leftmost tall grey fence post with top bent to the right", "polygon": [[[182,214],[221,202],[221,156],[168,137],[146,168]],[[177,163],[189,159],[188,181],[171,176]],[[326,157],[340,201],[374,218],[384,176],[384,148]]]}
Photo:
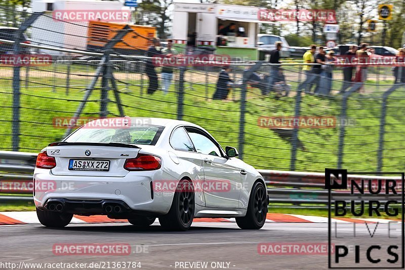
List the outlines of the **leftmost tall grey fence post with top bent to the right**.
{"label": "leftmost tall grey fence post with top bent to the right", "polygon": [[[13,53],[19,55],[21,52],[21,41],[23,33],[27,28],[43,13],[34,12],[29,16],[17,29],[16,37],[13,45]],[[13,68],[13,116],[12,116],[12,148],[13,151],[18,151],[20,148],[20,71],[21,67],[18,65]]]}

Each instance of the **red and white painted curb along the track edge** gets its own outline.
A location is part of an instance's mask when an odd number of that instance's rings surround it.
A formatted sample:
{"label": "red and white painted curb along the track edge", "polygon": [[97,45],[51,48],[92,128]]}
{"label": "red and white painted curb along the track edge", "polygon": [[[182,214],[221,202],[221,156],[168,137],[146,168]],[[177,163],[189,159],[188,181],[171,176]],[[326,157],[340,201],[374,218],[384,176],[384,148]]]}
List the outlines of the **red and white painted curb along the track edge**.
{"label": "red and white painted curb along the track edge", "polygon": [[[388,223],[398,219],[382,218],[332,218],[337,223]],[[106,216],[77,216],[74,215],[72,224],[94,223],[125,223],[126,219],[109,219]],[[235,222],[234,218],[195,218],[194,222]],[[266,222],[295,222],[295,223],[327,223],[327,217],[304,216],[293,214],[268,213]],[[40,224],[35,211],[0,212],[0,225]]]}

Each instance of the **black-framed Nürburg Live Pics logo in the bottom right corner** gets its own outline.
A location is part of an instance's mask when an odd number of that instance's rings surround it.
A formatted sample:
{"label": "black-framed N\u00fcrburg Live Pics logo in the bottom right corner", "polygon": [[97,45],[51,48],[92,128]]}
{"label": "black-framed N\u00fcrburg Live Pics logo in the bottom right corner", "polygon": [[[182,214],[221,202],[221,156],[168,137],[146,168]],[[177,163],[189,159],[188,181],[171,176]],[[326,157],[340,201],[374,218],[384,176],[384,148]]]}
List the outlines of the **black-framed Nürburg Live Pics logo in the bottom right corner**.
{"label": "black-framed N\u00fcrburg Live Pics logo in the bottom right corner", "polygon": [[405,267],[403,183],[401,172],[325,169],[329,268]]}

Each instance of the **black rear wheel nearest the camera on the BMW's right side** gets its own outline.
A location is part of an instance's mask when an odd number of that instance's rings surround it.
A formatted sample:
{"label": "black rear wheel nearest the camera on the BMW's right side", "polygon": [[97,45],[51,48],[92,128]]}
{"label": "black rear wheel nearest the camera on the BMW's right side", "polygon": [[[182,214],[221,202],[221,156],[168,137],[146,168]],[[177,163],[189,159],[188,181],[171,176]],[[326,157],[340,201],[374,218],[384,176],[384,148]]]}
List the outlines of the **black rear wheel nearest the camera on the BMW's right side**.
{"label": "black rear wheel nearest the camera on the BMW's right side", "polygon": [[177,185],[173,203],[159,223],[169,230],[187,230],[194,219],[194,189],[190,181],[183,179]]}

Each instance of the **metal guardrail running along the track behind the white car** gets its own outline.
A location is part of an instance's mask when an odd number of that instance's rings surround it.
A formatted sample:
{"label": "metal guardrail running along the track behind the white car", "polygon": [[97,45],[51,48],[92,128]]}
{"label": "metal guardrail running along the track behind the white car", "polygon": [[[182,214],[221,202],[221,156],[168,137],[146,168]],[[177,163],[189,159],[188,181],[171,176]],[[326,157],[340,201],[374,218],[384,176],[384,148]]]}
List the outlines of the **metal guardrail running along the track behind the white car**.
{"label": "metal guardrail running along the track behind the white car", "polygon": [[[0,151],[0,202],[32,201],[32,197],[14,196],[19,194],[32,194],[32,172],[35,167],[36,153]],[[325,190],[325,174],[315,172],[290,172],[277,170],[259,170],[263,175],[270,195],[271,204],[280,204],[280,207],[302,207],[317,205],[319,208],[328,204],[328,190]],[[348,179],[359,181],[360,179],[370,180],[376,184],[378,179],[392,179],[400,181],[400,177],[392,176],[368,176],[348,175]],[[20,189],[10,190],[7,183],[21,183]],[[369,183],[366,184],[366,187]],[[400,184],[400,182],[397,182]],[[402,188],[398,185],[398,188]],[[3,196],[2,196],[3,194]],[[10,196],[13,195],[13,196]],[[348,191],[332,191],[332,196],[340,197],[342,200],[360,199],[350,196]],[[363,200],[377,199],[368,195]],[[383,204],[387,199],[384,196],[378,197]],[[392,199],[392,197],[390,197]],[[398,201],[400,196],[398,195]]]}

